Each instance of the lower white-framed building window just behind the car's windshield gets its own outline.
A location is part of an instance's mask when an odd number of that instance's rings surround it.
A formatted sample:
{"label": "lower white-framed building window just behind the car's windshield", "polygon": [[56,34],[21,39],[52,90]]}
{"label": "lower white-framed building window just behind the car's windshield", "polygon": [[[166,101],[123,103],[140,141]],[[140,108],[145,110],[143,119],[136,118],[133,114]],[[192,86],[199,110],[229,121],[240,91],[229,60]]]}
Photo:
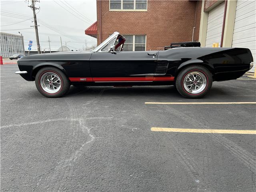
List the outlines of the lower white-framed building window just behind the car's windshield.
{"label": "lower white-framed building window just behind the car's windshield", "polygon": [[146,51],[145,35],[124,35],[126,41],[124,43],[124,51]]}

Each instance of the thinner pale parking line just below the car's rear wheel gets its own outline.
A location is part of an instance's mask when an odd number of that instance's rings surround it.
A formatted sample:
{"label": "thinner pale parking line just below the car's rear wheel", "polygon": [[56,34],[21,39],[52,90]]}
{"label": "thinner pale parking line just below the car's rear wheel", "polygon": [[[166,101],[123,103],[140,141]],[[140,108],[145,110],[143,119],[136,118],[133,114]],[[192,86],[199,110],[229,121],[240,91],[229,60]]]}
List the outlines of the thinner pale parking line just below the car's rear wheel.
{"label": "thinner pale parking line just below the car's rear wheel", "polygon": [[256,104],[256,102],[145,102],[145,104],[202,105],[202,104]]}

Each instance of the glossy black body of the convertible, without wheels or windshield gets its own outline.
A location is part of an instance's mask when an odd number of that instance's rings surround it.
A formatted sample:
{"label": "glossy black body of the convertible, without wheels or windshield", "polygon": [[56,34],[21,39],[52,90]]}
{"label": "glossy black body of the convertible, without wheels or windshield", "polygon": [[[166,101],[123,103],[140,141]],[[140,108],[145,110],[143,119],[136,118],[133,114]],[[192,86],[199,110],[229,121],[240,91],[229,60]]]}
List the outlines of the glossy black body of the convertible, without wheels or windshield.
{"label": "glossy black body of the convertible, without wheels or windshield", "polygon": [[[157,53],[156,56],[148,53]],[[165,51],[140,52],[58,52],[25,56],[18,60],[21,76],[33,81],[36,72],[44,66],[59,68],[70,78],[72,84],[88,85],[158,85],[172,84],[170,80],[156,82],[153,77],[176,77],[178,72],[190,65],[206,67],[215,81],[239,78],[249,70],[252,54],[246,48],[173,48]],[[146,78],[140,82],[94,83],[93,78]],[[80,81],[79,78],[86,78]],[[74,80],[77,79],[77,80]]]}

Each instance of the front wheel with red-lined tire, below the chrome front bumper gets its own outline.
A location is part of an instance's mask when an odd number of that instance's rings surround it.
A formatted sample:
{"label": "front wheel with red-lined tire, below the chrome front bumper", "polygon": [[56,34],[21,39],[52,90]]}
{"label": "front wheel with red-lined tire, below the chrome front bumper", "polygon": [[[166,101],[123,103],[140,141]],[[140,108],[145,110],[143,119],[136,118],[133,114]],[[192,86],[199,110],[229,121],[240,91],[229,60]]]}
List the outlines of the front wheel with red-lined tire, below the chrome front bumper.
{"label": "front wheel with red-lined tire, below the chrome front bumper", "polygon": [[70,88],[70,82],[67,76],[59,69],[54,67],[45,67],[36,74],[36,88],[46,97],[61,97]]}

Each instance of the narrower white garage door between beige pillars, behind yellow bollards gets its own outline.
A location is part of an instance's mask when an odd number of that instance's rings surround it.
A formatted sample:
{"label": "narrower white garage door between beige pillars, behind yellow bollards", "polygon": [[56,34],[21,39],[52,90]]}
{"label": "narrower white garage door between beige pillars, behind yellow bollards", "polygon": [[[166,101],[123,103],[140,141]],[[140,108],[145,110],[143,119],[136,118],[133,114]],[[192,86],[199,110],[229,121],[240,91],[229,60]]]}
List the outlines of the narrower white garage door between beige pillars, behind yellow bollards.
{"label": "narrower white garage door between beige pillars, behind yellow bollards", "polygon": [[221,40],[222,24],[224,17],[225,2],[218,5],[208,14],[208,24],[206,32],[206,47],[212,47],[212,44],[219,43]]}

